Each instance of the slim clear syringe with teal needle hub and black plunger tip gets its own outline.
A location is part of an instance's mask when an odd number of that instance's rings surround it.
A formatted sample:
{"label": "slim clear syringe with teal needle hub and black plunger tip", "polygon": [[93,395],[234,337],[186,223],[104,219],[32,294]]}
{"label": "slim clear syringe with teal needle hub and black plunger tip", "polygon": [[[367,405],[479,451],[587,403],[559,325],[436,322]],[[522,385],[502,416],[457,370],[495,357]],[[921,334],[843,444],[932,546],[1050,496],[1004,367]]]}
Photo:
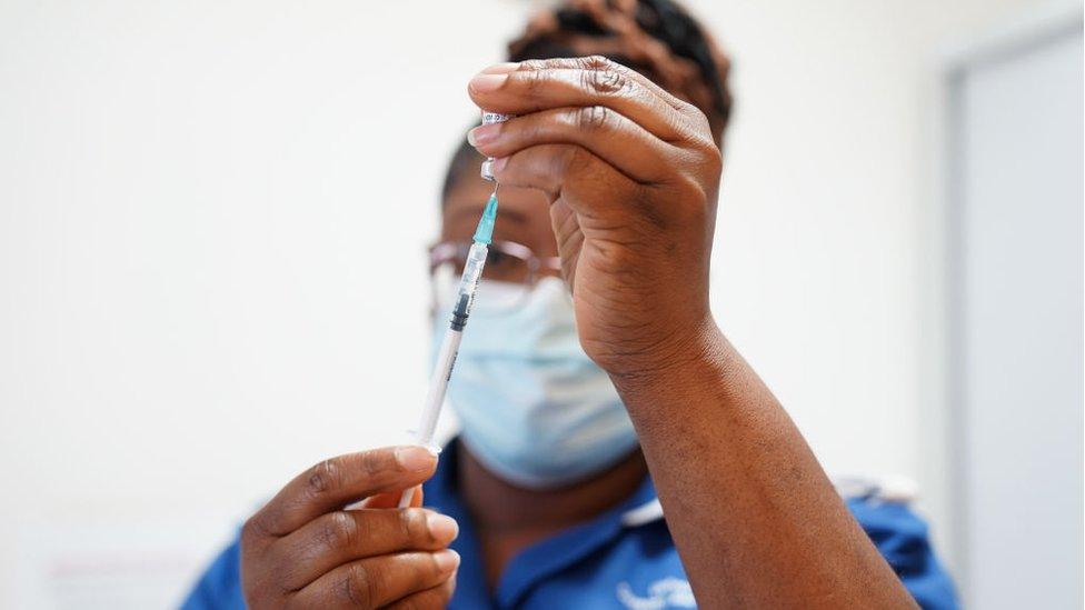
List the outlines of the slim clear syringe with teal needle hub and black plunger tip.
{"label": "slim clear syringe with teal needle hub and black plunger tip", "polygon": [[[434,366],[432,377],[429,378],[429,392],[426,394],[426,404],[418,422],[416,440],[422,447],[428,447],[435,451],[438,449],[434,443],[437,418],[440,416],[440,408],[445,402],[448,380],[452,376],[456,352],[459,351],[459,342],[464,338],[464,327],[467,326],[467,317],[471,314],[471,306],[475,304],[475,290],[478,288],[478,280],[482,277],[482,268],[486,266],[486,256],[494,237],[495,220],[497,220],[496,188],[489,201],[486,202],[482,218],[479,219],[478,228],[475,230],[471,248],[467,252],[467,263],[464,266],[464,274],[459,280],[459,290],[456,291],[452,317],[449,320],[448,330],[445,331],[445,338],[441,340],[440,351],[437,352],[437,363]],[[399,498],[399,508],[409,507],[414,497],[415,488],[405,490]]]}

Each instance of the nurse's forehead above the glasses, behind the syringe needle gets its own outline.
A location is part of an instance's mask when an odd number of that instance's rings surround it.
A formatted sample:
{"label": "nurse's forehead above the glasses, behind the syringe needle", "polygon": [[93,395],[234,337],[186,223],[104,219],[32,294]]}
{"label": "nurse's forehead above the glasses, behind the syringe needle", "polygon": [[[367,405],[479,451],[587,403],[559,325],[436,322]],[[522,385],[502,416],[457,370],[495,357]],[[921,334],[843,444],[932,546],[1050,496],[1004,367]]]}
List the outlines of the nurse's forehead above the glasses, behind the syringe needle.
{"label": "nurse's forehead above the glasses, behind the syringe needle", "polygon": [[[494,183],[477,173],[460,177],[441,209],[440,240],[469,242],[491,192]],[[498,201],[495,242],[512,241],[527,246],[537,257],[558,256],[549,206],[541,192],[502,187],[498,191]]]}

